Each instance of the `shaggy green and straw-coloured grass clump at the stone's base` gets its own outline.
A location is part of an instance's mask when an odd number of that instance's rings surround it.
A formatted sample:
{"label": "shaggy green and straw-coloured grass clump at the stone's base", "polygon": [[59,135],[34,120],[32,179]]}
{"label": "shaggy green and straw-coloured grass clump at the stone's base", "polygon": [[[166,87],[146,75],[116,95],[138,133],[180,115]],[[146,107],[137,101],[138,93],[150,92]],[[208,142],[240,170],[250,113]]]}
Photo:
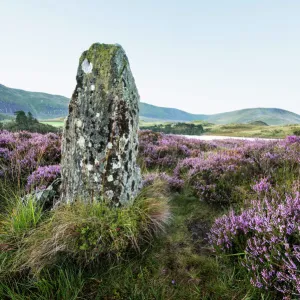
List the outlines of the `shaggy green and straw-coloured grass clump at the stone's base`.
{"label": "shaggy green and straw-coloured grass clump at the stone's base", "polygon": [[142,190],[133,203],[122,208],[105,201],[62,205],[24,238],[18,268],[38,273],[61,259],[71,259],[82,266],[103,258],[121,259],[149,243],[169,219],[162,182]]}

